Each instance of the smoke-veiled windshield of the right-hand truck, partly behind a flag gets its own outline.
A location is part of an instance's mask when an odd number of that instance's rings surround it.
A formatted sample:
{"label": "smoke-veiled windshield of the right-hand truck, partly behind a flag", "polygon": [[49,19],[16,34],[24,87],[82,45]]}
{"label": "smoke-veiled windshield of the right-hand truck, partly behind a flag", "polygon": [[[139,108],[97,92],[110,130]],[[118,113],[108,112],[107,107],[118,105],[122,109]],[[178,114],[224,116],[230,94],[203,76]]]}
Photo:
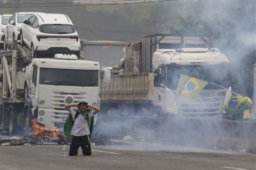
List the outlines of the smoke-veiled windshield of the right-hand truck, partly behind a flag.
{"label": "smoke-veiled windshield of the right-hand truck, partly behind a flag", "polygon": [[[191,66],[170,66],[165,67],[162,83],[172,90],[176,90],[181,73],[196,77],[198,79],[210,81],[225,88],[230,87],[230,77],[228,76],[228,65],[191,65]],[[163,70],[163,69],[162,69]],[[162,72],[162,71],[161,71]],[[219,89],[220,87],[208,84],[204,89]]]}

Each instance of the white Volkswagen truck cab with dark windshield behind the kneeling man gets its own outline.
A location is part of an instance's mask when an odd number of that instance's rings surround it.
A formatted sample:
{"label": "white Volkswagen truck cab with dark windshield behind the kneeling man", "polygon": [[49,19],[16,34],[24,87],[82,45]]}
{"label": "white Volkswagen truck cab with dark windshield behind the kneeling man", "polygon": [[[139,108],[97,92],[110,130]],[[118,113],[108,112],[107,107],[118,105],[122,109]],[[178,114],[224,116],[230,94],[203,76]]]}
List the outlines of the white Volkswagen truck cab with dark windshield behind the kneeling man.
{"label": "white Volkswagen truck cab with dark windshield behind the kneeling man", "polygon": [[68,117],[65,104],[89,101],[99,107],[99,63],[64,54],[33,59],[26,67],[24,91],[25,117],[62,131]]}

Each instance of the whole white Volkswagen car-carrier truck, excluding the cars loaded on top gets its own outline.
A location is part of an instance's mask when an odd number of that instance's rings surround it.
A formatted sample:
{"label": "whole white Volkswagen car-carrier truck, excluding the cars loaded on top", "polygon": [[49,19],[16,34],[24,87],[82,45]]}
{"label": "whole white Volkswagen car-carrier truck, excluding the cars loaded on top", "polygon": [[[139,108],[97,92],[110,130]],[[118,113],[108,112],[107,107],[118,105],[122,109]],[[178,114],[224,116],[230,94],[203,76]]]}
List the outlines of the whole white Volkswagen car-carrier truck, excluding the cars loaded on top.
{"label": "whole white Volkswagen car-carrier truck, excluding the cars loaded on top", "polygon": [[14,133],[37,118],[45,128],[61,131],[68,117],[64,104],[88,101],[99,106],[98,62],[65,54],[32,59],[29,49],[19,45],[12,55],[2,53],[0,130]]}

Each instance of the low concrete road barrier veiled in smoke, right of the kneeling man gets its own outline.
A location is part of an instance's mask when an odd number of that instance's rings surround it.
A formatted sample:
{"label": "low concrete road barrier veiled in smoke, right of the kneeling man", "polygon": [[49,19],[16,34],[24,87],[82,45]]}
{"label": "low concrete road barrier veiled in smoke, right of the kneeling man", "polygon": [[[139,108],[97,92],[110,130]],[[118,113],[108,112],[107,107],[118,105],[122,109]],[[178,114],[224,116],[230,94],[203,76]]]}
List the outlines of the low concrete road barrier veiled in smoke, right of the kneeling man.
{"label": "low concrete road barrier veiled in smoke, right of the kneeling man", "polygon": [[255,132],[256,121],[98,115],[93,135],[255,153]]}

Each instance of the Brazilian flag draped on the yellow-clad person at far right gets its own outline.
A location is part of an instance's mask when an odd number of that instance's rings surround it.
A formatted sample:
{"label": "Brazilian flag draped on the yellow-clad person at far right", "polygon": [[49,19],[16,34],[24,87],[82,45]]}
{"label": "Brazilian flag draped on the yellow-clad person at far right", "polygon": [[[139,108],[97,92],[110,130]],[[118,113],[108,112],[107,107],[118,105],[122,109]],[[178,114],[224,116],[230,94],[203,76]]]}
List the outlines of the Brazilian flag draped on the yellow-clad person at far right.
{"label": "Brazilian flag draped on the yellow-clad person at far right", "polygon": [[227,114],[236,115],[241,114],[247,109],[250,109],[251,105],[245,97],[240,95],[233,95],[230,100],[224,105],[224,110]]}

